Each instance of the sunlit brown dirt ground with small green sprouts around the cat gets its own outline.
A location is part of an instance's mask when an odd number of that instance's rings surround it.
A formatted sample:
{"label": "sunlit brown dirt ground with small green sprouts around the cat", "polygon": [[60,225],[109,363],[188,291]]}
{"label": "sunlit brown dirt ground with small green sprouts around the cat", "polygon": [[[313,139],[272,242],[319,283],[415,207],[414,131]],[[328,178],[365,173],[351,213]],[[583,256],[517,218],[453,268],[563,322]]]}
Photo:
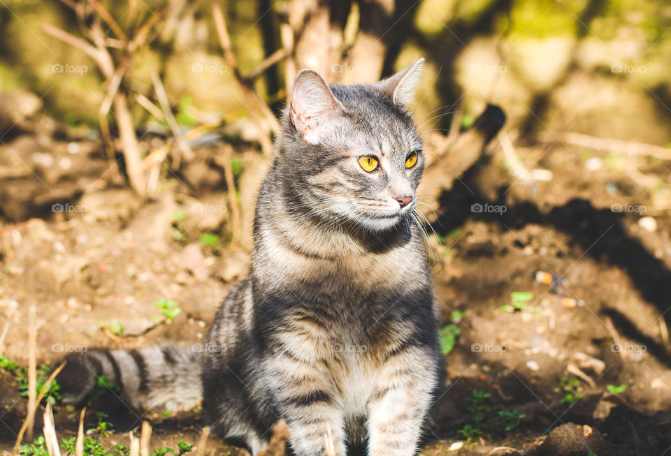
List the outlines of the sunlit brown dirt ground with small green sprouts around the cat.
{"label": "sunlit brown dirt ground with small green sprouts around the cat", "polygon": [[[197,166],[164,170],[168,184],[145,204],[101,179],[106,158],[85,137],[23,134],[3,149],[0,330],[9,324],[0,353],[27,365],[31,307],[38,361],[52,367],[82,348],[203,340],[249,261],[248,239],[231,249],[223,234],[231,220],[222,209],[227,197],[217,147],[203,151]],[[435,217],[442,323],[455,341],[421,454],[665,454],[671,447],[665,163],[646,164],[645,172],[661,176],[649,190],[622,172],[616,156],[561,141],[531,145],[517,150],[521,162],[552,178],[530,183],[512,177],[493,151],[442,193],[439,210],[427,211]],[[258,182],[259,159],[253,152],[241,156],[250,182]],[[243,198],[243,212],[251,208]],[[208,233],[219,237],[203,239]],[[172,323],[155,321],[161,312],[152,303],[161,298],[182,310]],[[11,450],[26,414],[15,377],[0,369],[0,450]],[[100,410],[113,425],[102,439],[109,447],[127,445],[142,420],[152,423],[157,448],[175,448],[180,439],[195,444],[201,432],[197,410],[142,415],[110,397],[88,407],[85,427],[95,427]],[[516,413],[519,423],[507,429],[488,421],[500,412]],[[59,437],[75,435],[78,410],[57,405],[55,417]],[[475,429],[470,439],[464,429]],[[242,454],[214,439],[211,450]]]}

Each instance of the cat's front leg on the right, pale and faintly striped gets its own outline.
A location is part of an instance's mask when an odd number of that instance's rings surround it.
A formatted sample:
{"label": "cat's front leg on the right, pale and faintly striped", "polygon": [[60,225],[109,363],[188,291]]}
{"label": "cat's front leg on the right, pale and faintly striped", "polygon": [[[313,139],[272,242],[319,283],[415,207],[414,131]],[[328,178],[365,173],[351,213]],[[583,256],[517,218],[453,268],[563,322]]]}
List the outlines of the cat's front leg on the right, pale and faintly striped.
{"label": "cat's front leg on the right, pale and faintly striped", "polygon": [[384,369],[386,385],[378,385],[377,394],[368,404],[370,456],[417,453],[438,375],[430,356],[420,357],[424,359],[419,362],[416,357],[405,358],[392,360]]}

